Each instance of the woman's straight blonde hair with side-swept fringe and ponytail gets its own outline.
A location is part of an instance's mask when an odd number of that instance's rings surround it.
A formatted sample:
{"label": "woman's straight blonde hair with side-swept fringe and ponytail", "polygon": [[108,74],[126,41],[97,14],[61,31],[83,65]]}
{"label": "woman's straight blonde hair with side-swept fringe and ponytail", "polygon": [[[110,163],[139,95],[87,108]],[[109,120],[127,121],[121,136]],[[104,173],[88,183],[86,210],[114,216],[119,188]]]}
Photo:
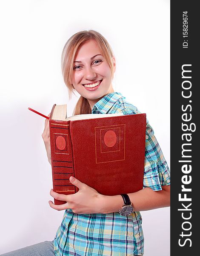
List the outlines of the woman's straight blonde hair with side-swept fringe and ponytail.
{"label": "woman's straight blonde hair with side-swept fringe and ponytail", "polygon": [[[72,77],[73,77],[73,70],[74,70],[74,58],[77,53],[77,50],[80,46],[85,43],[86,41],[94,40],[97,42],[102,55],[106,59],[111,69],[111,76],[114,76],[114,66],[113,66],[113,52],[112,49],[106,40],[99,32],[94,30],[83,30],[77,32],[76,34],[72,35],[71,38],[66,42],[62,56],[61,56],[61,66],[62,66],[62,73],[63,79],[66,86],[69,89],[69,99],[71,99],[71,94],[74,93],[74,87],[72,84]],[[75,108],[74,108],[74,115],[78,114],[87,114],[91,113],[91,108],[89,102],[83,96],[80,96]]]}

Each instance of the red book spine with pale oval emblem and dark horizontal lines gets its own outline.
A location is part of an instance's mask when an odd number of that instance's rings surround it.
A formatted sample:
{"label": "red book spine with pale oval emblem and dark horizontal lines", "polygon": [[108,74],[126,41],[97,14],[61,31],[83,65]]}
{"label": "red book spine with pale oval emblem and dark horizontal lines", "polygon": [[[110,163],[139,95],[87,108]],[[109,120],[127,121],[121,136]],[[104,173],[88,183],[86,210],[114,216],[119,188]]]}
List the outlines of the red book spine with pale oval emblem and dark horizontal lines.
{"label": "red book spine with pale oval emblem and dark horizontal lines", "polygon": [[[74,194],[76,187],[69,182],[69,177],[74,176],[69,121],[49,119],[49,131],[53,190],[63,195]],[[54,204],[65,203],[54,199]]]}

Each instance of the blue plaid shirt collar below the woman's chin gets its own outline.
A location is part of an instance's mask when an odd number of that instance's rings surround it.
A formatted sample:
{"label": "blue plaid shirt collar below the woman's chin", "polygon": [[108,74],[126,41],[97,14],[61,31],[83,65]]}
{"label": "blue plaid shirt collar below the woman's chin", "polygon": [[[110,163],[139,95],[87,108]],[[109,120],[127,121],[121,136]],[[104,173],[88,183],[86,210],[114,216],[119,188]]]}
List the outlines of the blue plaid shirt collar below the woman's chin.
{"label": "blue plaid shirt collar below the woman's chin", "polygon": [[117,100],[120,98],[123,98],[123,95],[121,93],[114,92],[107,94],[96,104],[94,104],[91,113],[94,113],[95,111],[99,111],[102,114],[108,113],[114,103],[117,102]]}

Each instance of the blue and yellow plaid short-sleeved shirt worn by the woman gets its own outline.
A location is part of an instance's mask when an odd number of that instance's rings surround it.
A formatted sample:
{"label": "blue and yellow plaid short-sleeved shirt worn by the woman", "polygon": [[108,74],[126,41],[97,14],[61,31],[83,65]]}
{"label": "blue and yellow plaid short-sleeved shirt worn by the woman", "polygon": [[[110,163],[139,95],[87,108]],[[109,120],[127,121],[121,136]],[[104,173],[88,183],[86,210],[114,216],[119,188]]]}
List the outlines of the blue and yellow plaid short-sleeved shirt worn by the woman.
{"label": "blue and yellow plaid short-sleeved shirt worn by the woman", "polygon": [[[140,113],[121,93],[109,93],[100,99],[91,113]],[[146,123],[146,150],[143,187],[154,191],[170,185],[170,172],[163,153]],[[144,237],[140,212],[122,216],[109,214],[76,214],[66,209],[54,239],[56,256],[133,256],[143,255]]]}

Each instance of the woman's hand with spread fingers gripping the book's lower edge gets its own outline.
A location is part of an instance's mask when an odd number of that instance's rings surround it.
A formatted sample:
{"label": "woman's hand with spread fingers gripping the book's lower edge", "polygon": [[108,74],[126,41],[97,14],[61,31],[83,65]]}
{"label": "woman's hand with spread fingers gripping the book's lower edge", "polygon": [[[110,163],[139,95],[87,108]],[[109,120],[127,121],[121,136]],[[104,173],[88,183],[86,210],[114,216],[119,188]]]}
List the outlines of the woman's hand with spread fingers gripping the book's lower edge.
{"label": "woman's hand with spread fingers gripping the book's lower edge", "polygon": [[69,208],[74,213],[79,214],[102,213],[104,195],[99,194],[95,189],[72,176],[69,180],[71,184],[79,188],[79,191],[72,195],[62,195],[51,189],[50,195],[53,198],[67,203],[55,205],[52,201],[49,201],[50,207],[58,211]]}

